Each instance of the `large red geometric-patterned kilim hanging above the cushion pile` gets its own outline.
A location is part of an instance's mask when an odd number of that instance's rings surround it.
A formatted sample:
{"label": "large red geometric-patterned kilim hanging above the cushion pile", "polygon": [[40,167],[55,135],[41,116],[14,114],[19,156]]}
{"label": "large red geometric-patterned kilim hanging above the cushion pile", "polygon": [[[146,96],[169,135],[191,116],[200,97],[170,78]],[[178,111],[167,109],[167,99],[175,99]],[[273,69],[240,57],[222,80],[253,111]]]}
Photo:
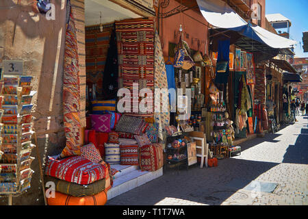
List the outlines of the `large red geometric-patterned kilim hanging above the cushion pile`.
{"label": "large red geometric-patterned kilim hanging above the cushion pile", "polygon": [[[154,22],[133,19],[116,22],[118,47],[118,88],[131,90],[131,112],[127,115],[149,118],[154,116],[153,95],[146,96],[150,112],[140,112],[136,103],[144,101],[138,94],[133,95],[133,83],[138,90],[154,87]],[[135,88],[137,90],[137,87]]]}

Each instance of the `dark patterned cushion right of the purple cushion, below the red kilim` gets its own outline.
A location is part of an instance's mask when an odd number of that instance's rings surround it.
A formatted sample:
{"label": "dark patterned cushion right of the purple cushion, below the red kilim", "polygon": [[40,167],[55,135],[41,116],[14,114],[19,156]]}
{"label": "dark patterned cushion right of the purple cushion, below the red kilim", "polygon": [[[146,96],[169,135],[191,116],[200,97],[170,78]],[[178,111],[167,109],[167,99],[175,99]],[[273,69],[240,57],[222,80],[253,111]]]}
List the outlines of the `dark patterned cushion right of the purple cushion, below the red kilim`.
{"label": "dark patterned cushion right of the purple cushion, below the red kilim", "polygon": [[146,122],[142,118],[123,115],[116,125],[116,131],[140,135],[144,131],[145,125]]}

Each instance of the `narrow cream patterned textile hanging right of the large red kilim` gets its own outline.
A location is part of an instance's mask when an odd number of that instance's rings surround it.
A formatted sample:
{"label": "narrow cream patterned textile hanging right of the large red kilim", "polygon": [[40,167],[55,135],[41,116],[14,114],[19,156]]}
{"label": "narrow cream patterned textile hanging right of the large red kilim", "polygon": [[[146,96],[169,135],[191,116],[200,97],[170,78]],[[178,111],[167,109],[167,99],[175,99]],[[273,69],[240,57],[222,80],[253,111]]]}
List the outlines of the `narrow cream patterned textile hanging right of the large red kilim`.
{"label": "narrow cream patterned textile hanging right of the large red kilim", "polygon": [[[158,137],[160,139],[163,139],[163,129],[164,127],[168,126],[170,122],[170,107],[168,100],[169,97],[166,66],[164,61],[164,55],[162,53],[162,44],[159,40],[159,34],[157,32],[155,32],[154,54],[154,88],[159,88],[162,90],[162,96],[159,97],[160,105],[155,103],[154,118],[155,122],[159,124]],[[160,95],[160,93],[158,92],[155,94]]]}

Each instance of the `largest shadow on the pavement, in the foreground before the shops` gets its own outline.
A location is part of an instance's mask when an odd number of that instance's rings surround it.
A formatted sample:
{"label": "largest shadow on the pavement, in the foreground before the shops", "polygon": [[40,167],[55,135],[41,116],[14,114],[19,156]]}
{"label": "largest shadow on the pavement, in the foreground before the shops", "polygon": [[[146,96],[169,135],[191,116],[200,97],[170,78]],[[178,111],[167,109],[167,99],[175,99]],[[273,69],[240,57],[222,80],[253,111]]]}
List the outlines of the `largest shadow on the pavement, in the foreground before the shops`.
{"label": "largest shadow on the pavement, in the foreground before the shops", "polygon": [[[164,170],[164,177],[112,198],[106,205],[185,205],[185,201],[196,205],[220,205],[277,165],[245,159],[221,159],[218,166],[212,168],[198,165],[189,170],[168,169]],[[249,198],[249,195],[242,194],[238,198]],[[179,203],[174,203],[175,200]]]}

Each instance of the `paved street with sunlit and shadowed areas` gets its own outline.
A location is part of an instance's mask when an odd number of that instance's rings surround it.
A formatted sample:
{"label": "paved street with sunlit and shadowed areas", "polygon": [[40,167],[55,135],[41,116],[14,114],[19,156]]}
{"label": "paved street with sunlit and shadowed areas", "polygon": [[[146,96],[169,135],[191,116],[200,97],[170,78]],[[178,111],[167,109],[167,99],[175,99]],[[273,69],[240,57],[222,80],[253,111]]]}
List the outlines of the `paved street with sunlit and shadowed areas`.
{"label": "paved street with sunlit and shadowed areas", "polygon": [[[242,143],[241,155],[217,167],[164,170],[106,205],[308,205],[308,116],[298,120]],[[264,191],[261,183],[274,184]]]}

